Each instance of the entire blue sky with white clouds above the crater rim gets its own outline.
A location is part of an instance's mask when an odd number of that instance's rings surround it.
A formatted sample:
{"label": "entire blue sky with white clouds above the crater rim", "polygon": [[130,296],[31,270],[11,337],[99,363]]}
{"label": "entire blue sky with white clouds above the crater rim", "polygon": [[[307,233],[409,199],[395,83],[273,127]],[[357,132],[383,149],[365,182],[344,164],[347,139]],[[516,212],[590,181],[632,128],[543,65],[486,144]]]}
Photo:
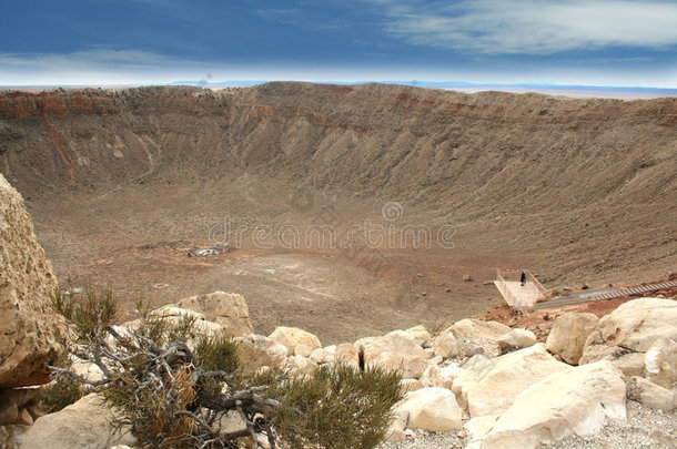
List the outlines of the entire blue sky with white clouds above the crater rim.
{"label": "entire blue sky with white clouds above the crater rim", "polygon": [[670,0],[2,0],[0,85],[176,80],[677,88]]}

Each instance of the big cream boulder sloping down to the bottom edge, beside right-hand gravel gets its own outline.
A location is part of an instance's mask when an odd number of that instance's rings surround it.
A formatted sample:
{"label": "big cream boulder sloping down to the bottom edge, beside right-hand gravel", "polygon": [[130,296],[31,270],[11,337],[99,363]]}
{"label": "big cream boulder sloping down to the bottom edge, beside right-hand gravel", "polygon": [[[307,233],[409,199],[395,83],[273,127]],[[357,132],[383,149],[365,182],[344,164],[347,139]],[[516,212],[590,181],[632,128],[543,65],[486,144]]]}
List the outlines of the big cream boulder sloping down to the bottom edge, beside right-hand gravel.
{"label": "big cream boulder sloping down to the bottom edge, beside right-hand gravel", "polygon": [[608,360],[555,373],[519,394],[471,448],[537,448],[572,433],[595,435],[626,418],[623,374]]}

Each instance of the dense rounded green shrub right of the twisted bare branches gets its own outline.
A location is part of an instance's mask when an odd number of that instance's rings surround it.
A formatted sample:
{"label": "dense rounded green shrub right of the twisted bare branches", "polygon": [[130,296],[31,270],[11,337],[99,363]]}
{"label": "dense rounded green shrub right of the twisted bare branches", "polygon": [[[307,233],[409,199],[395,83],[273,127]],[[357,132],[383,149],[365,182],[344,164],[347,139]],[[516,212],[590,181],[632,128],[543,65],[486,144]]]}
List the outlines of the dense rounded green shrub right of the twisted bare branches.
{"label": "dense rounded green shrub right of the twisted bare branches", "polygon": [[385,437],[392,408],[402,399],[401,379],[397,371],[360,371],[338,364],[321,367],[313,377],[273,380],[269,395],[280,406],[272,420],[294,448],[373,448]]}

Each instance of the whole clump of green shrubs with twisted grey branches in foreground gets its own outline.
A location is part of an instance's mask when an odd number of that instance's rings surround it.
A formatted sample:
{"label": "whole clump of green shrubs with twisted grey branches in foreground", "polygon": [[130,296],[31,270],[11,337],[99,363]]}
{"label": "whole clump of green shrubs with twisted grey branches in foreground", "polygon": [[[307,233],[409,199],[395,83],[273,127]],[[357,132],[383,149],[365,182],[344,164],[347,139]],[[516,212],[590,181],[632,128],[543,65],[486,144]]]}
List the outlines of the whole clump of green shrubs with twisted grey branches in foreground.
{"label": "whole clump of green shrubs with twisted grey branches in foreground", "polygon": [[[263,436],[294,448],[373,448],[384,437],[391,408],[401,399],[398,373],[336,365],[315,376],[267,374],[238,377],[238,351],[225,334],[201,334],[190,317],[168,319],[145,312],[135,330],[113,326],[111,292],[82,297],[57,293],[54,307],[72,324],[70,357],[97,365],[102,379],[51,367],[57,382],[43,404],[55,410],[87,385],[129,425],[141,447],[235,448]],[[241,430],[221,431],[239,414]],[[256,446],[256,445],[254,445]]]}

